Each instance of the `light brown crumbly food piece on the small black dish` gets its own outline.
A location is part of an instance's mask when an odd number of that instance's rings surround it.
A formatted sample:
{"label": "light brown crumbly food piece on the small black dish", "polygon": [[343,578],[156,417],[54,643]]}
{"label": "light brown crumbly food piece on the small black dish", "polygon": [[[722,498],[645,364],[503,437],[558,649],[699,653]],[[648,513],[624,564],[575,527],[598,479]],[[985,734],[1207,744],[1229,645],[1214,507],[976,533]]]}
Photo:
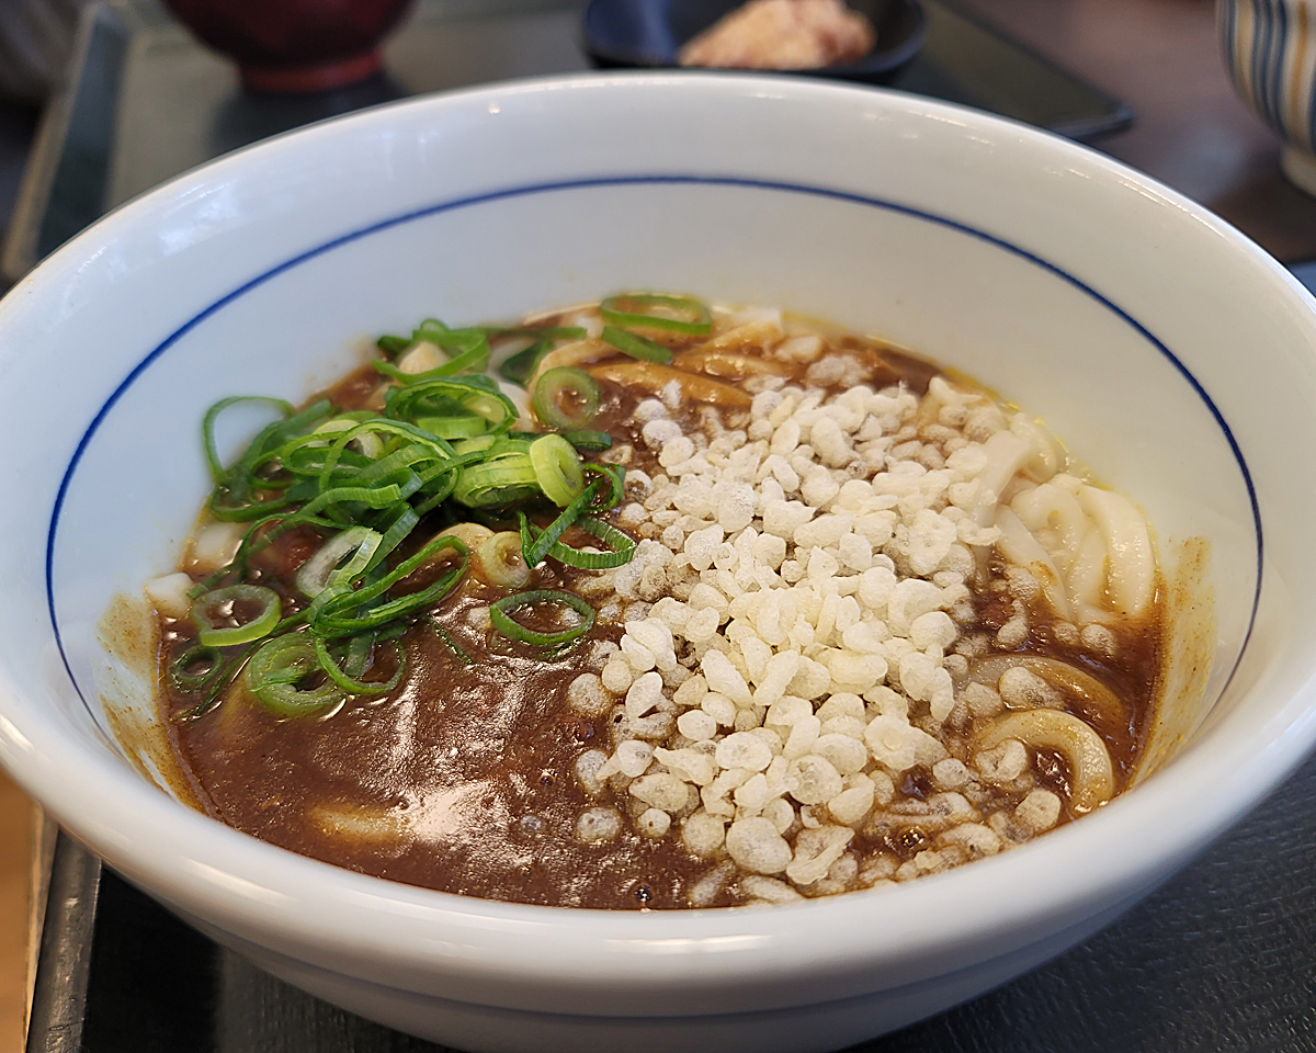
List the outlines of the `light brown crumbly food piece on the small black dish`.
{"label": "light brown crumbly food piece on the small black dish", "polygon": [[842,0],[750,0],[680,49],[682,66],[816,70],[873,50],[873,24]]}

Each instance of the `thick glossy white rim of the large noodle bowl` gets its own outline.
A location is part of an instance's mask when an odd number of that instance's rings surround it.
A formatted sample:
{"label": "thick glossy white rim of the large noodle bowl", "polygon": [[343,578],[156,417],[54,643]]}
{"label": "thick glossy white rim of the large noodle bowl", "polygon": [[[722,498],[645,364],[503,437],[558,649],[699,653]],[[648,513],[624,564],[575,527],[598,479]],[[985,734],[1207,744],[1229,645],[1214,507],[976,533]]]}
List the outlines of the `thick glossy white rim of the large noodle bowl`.
{"label": "thick glossy white rim of the large noodle bowl", "polygon": [[[483,108],[495,96],[563,90],[583,97],[600,86],[620,91],[701,92],[740,97],[754,92],[795,96],[811,104],[863,103],[913,118],[954,120],[979,134],[1041,149],[1094,178],[1116,179],[1157,199],[1187,221],[1205,225],[1228,246],[1267,274],[1287,307],[1316,330],[1316,308],[1296,280],[1273,258],[1200,205],[1119,162],[1004,118],[898,92],[787,76],[724,78],[717,74],[612,72],[537,78],[482,86],[440,96],[392,103],[307,129],[278,136],[203,166],[111,212],[41,263],[22,283],[26,295],[61,283],[80,266],[91,246],[147,220],[200,175],[207,180],[237,174],[257,155],[295,154],[300,142],[350,134],[387,122],[395,112]],[[583,91],[582,91],[583,90]],[[22,309],[18,297],[0,304],[0,325]],[[688,990],[692,985],[740,987],[755,979],[809,970],[845,975],[875,962],[899,965],[909,979],[948,946],[1001,945],[1004,935],[1023,938],[1038,927],[1073,920],[1084,904],[1100,904],[1112,887],[1146,885],[1199,850],[1205,841],[1254,806],[1316,741],[1316,684],[1308,682],[1248,736],[1216,742],[1215,759],[1203,752],[1180,757],[1173,767],[1121,796],[1082,824],[1000,857],[976,861],[883,891],[850,892],[825,900],[778,906],[771,911],[682,911],[628,913],[537,907],[479,900],[384,882],[329,863],[295,856],[170,800],[117,758],[89,745],[70,744],[38,708],[22,712],[0,698],[0,759],[17,781],[45,803],[75,837],[88,844],[175,908],[200,916],[237,919],[262,942],[292,942],[299,953],[329,961],[367,961],[415,990],[459,969],[524,985],[596,985],[600,990]],[[13,716],[8,716],[12,712]],[[1232,759],[1224,774],[1221,759]],[[78,766],[71,779],[66,765]],[[78,783],[78,787],[75,787]],[[95,813],[86,809],[95,790]],[[1203,806],[1203,802],[1207,806]],[[1109,848],[1140,825],[1140,813],[1177,815],[1150,853],[1130,861]],[[1037,873],[1046,860],[1066,858],[1063,887],[1024,888],[1020,877]],[[973,885],[966,885],[973,882]],[[991,890],[991,910],[974,895]],[[945,913],[948,899],[965,913],[949,929],[929,932],[926,919]],[[892,910],[884,910],[884,907]],[[880,916],[880,938],[858,919]],[[333,923],[332,927],[325,921]],[[382,938],[388,933],[395,940]],[[462,942],[462,940],[466,942]],[[820,953],[820,940],[826,941]],[[436,948],[446,949],[442,954]],[[396,969],[407,970],[405,979]],[[420,985],[417,987],[416,985]],[[871,983],[870,983],[871,986]],[[546,987],[546,989],[547,989]],[[501,995],[490,994],[496,1002]],[[776,1002],[775,1004],[783,1004]],[[619,1014],[625,1010],[619,1008]]]}

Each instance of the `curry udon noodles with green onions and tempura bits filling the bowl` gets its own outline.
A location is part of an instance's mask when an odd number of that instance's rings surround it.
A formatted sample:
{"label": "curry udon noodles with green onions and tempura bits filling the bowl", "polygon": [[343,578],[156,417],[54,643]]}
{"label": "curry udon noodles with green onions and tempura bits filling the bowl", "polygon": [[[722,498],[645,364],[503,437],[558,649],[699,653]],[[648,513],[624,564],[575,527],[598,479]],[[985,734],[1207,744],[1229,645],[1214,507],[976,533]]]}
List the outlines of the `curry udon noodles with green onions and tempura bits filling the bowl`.
{"label": "curry udon noodles with green onions and tempura bits filling the bowl", "polygon": [[[215,466],[147,584],[212,816],[449,892],[679,908],[891,886],[1128,784],[1148,528],[1026,413],[674,296],[380,347]],[[491,350],[511,401],[462,379]]]}

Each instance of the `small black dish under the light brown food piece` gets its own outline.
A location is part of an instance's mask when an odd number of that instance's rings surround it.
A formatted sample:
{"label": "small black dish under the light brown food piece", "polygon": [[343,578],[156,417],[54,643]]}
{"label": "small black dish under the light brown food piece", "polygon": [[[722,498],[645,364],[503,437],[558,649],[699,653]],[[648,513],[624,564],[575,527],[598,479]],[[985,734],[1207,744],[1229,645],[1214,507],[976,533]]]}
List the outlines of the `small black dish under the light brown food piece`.
{"label": "small black dish under the light brown food piece", "polygon": [[[584,9],[586,51],[603,68],[674,68],[682,45],[744,0],[590,0]],[[804,76],[887,84],[917,54],[928,17],[917,0],[850,0],[878,30],[876,46],[858,62]]]}

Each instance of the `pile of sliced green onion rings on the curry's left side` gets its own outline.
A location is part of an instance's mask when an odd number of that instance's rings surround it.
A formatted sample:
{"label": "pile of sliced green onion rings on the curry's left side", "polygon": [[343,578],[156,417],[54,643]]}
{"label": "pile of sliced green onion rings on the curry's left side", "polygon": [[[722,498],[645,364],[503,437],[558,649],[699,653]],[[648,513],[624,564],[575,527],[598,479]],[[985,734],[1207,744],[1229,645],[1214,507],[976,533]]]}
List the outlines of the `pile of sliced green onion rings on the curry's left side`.
{"label": "pile of sliced green onion rings on the curry's left side", "polygon": [[[672,316],[678,324],[688,324],[696,313],[675,299],[654,300],[647,307],[654,317]],[[426,342],[449,358],[420,374],[376,362],[379,372],[396,380],[387,387],[383,412],[338,412],[328,399],[301,409],[282,399],[245,396],[212,405],[203,421],[204,451],[215,479],[209,508],[217,520],[242,523],[245,532],[232,561],[190,592],[197,641],[184,645],[167,675],[176,690],[195,694],[195,704],[172,719],[192,720],[208,712],[237,677],[245,677],[251,694],[280,716],[318,713],[351,695],[390,691],[403,677],[400,637],[457,587],[472,558],[479,559],[487,580],[509,590],[525,587],[532,566],[546,554],[562,553],[566,559],[561,562],[574,559],[572,566],[616,566],[629,558],[634,542],[596,519],[620,501],[625,473],[617,466],[582,463],[576,453],[607,449],[612,442],[603,432],[582,429],[597,412],[597,384],[582,370],[547,371],[540,379],[550,383],[537,384],[537,412],[567,434],[513,432],[516,404],[483,374],[490,338],[534,341],[503,363],[504,375],[524,382],[557,341],[586,336],[578,326],[449,329],[426,319],[409,338],[380,337],[380,350],[395,358]],[[225,466],[216,423],[229,407],[246,401],[268,407],[276,419]],[[516,508],[541,498],[565,505],[544,530],[530,526]],[[458,508],[461,504],[470,511]],[[474,557],[461,540],[440,534],[390,567],[393,553],[434,509],[442,509],[447,521],[459,515],[488,523],[494,530],[516,511],[521,529],[484,537]],[[562,533],[576,523],[611,552],[580,554],[561,544]],[[280,620],[283,599],[251,583],[251,561],[299,526],[324,541],[296,573],[297,588],[308,599],[305,608]],[[445,554],[453,558],[425,569]],[[404,580],[421,574],[429,584]],[[413,591],[393,595],[395,586]],[[583,627],[551,633],[513,628],[520,637],[538,642],[545,655],[557,654],[594,621],[584,600],[562,596],[569,594],[522,594],[521,602],[509,598],[501,602],[505,609],[500,616],[515,627],[507,611],[541,602],[566,603]],[[445,630],[438,632],[453,653],[470,663],[470,655]],[[392,675],[366,679],[372,657],[384,645],[395,655]]]}

